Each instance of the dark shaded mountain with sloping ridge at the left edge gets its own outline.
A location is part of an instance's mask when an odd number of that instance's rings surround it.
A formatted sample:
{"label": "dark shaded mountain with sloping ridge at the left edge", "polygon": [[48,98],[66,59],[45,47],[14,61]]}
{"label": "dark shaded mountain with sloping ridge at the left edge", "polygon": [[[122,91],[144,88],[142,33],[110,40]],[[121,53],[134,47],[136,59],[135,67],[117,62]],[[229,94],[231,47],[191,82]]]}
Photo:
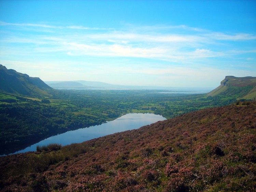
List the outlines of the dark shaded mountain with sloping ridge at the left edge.
{"label": "dark shaded mountain with sloping ridge at the left edge", "polygon": [[0,92],[28,96],[49,96],[48,91],[53,90],[39,77],[29,77],[13,69],[6,69],[0,64]]}

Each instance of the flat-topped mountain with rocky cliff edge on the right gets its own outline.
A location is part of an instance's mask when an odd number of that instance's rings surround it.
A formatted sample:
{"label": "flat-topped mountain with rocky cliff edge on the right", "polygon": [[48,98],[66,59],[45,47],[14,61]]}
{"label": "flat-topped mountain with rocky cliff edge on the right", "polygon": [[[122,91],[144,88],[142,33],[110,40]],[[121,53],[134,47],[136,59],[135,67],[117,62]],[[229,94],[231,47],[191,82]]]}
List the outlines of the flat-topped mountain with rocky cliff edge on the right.
{"label": "flat-topped mountain with rocky cliff edge on the right", "polygon": [[225,95],[236,99],[256,99],[256,77],[226,76],[221,85],[207,95]]}

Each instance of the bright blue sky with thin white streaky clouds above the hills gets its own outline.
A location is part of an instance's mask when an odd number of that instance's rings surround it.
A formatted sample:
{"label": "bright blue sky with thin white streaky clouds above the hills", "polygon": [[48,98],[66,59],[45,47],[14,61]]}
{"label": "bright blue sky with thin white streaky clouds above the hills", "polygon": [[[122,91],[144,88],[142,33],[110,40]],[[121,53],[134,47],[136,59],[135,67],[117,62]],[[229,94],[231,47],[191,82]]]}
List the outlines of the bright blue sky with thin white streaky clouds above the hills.
{"label": "bright blue sky with thin white streaky clouds above the hills", "polygon": [[214,88],[256,76],[256,1],[0,0],[0,64],[44,81]]}

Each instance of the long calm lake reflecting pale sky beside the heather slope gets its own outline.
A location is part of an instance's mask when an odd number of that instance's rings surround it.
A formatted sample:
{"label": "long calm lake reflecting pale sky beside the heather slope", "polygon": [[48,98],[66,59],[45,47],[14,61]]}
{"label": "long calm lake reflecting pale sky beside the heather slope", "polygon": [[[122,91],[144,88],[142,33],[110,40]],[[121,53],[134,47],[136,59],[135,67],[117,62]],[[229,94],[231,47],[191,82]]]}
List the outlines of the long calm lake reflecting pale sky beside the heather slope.
{"label": "long calm lake reflecting pale sky beside the heather slope", "polygon": [[[166,120],[165,117],[151,113],[130,113],[123,115],[113,121],[107,121],[101,125],[95,125],[88,128],[77,129],[68,131],[59,135],[55,135],[40,141],[23,150],[16,151],[15,153],[23,153],[27,151],[36,151],[37,146],[48,145],[51,143],[58,143],[69,145],[72,143],[82,143],[90,139],[110,135],[117,132],[138,129],[144,125],[155,123],[157,121]],[[12,153],[14,154],[14,153]]]}

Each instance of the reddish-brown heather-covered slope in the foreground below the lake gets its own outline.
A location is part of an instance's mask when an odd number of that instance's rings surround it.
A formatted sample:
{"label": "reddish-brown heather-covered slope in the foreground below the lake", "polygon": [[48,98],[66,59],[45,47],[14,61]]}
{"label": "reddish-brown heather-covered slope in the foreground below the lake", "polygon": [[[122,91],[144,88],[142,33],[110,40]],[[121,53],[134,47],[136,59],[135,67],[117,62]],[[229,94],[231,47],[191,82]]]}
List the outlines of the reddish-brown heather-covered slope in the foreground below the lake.
{"label": "reddish-brown heather-covered slope in the foreground below the lake", "polygon": [[58,151],[0,157],[0,189],[255,191],[256,104],[243,104],[203,109]]}

